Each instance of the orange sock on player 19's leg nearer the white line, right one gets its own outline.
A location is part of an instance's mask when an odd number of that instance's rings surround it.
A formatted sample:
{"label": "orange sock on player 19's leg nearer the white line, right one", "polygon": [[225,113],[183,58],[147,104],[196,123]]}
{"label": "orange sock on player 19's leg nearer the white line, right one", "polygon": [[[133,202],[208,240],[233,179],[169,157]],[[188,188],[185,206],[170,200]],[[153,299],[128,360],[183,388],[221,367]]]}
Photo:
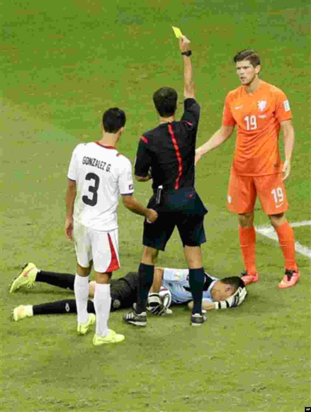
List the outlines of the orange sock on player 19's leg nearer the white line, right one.
{"label": "orange sock on player 19's leg nearer the white line, right one", "polygon": [[285,269],[297,270],[297,263],[295,258],[295,236],[292,227],[287,220],[281,225],[275,227],[279,238],[280,248],[282,249]]}

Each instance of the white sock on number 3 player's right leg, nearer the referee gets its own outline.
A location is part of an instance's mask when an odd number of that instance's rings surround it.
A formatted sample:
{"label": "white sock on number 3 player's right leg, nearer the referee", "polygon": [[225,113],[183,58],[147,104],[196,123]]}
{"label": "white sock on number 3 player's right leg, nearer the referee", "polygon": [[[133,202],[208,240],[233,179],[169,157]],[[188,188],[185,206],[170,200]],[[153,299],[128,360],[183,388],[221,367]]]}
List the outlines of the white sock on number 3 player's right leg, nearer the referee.
{"label": "white sock on number 3 player's right leg, nearer the referee", "polygon": [[96,283],[94,307],[96,313],[96,335],[105,337],[108,334],[108,319],[110,314],[110,283]]}

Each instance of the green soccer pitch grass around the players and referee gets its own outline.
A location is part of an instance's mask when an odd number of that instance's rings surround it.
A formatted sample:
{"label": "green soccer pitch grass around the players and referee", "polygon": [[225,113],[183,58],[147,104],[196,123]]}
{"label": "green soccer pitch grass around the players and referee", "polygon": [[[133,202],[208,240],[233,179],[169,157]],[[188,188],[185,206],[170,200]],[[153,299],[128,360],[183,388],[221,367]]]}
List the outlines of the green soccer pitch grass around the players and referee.
{"label": "green soccer pitch grass around the players and referee", "polygon": [[[100,137],[102,112],[125,110],[117,148],[134,162],[141,133],[158,121],[153,91],[169,85],[183,100],[182,59],[171,25],[192,41],[202,105],[197,145],[220,126],[225,95],[239,86],[232,56],[246,47],[258,51],[262,79],[285,91],[294,116],[287,218],[310,221],[309,12],[302,0],[2,5],[2,411],[301,412],[311,406],[310,259],[297,254],[301,281],[278,290],[283,258],[262,234],[260,282],[248,287],[240,307],[208,313],[198,329],[182,306],[173,307],[171,317],[149,319],[143,330],[122,323],[119,311],[109,325],[125,342],[94,348],[93,331],[77,336],[72,315],[10,320],[19,304],[64,299],[67,290],[38,283],[8,293],[28,261],[74,273],[74,250],[63,230],[67,167],[77,143]],[[209,209],[204,267],[219,277],[243,267],[237,218],[225,208],[233,150],[234,136],[197,166],[196,188]],[[144,204],[150,186],[135,183],[135,197]],[[122,267],[115,276],[122,276],[138,267],[143,220],[122,205],[118,213]],[[259,204],[255,219],[268,224]],[[310,249],[310,226],[294,231]],[[185,267],[177,233],[158,265]]]}

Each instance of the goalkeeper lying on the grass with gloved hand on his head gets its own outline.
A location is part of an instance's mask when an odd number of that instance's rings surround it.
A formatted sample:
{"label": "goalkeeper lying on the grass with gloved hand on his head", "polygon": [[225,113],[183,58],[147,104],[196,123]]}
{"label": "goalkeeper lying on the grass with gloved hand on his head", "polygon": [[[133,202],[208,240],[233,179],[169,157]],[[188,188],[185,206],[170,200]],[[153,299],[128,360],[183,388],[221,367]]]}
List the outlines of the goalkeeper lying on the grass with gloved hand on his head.
{"label": "goalkeeper lying on the grass with gloved hand on his head", "polygon": [[[191,307],[192,295],[188,281],[188,269],[169,269],[156,267],[154,281],[149,293],[148,304],[152,314],[163,315],[172,313],[168,306],[172,303],[182,304],[188,302]],[[22,286],[31,288],[35,282],[44,282],[49,285],[73,290],[74,275],[46,272],[38,269],[33,263],[28,263],[19,276],[11,283],[10,293],[15,292]],[[129,272],[119,279],[111,279],[111,311],[131,307],[136,302],[138,273]],[[171,300],[162,302],[160,300],[160,288],[164,286],[171,295]],[[94,296],[95,281],[89,283],[89,297]],[[247,295],[244,282],[239,276],[232,276],[218,280],[209,274],[205,274],[202,309],[226,309],[238,306]],[[88,313],[95,313],[93,301],[88,300]],[[74,299],[58,300],[39,305],[21,305],[13,311],[14,321],[25,317],[44,314],[77,313],[76,301]]]}

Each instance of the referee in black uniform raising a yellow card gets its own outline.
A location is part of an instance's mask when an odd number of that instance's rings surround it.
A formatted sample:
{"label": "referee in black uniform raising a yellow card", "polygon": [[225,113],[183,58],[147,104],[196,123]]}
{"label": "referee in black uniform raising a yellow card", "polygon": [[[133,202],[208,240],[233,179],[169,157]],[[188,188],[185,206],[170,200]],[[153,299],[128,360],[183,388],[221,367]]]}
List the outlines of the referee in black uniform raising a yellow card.
{"label": "referee in black uniform raising a yellow card", "polygon": [[[205,321],[202,314],[204,268],[201,243],[206,241],[203,219],[207,213],[195,192],[195,140],[200,117],[200,106],[195,101],[192,78],[190,41],[179,39],[184,64],[184,113],[175,121],[177,108],[176,90],[162,87],[153,94],[153,102],[160,115],[160,124],[144,133],[139,141],[135,162],[135,177],[146,182],[153,179],[153,196],[148,207],[158,212],[154,223],[144,221],[144,251],[139,265],[136,311],[124,316],[128,323],[146,326],[146,302],[153,283],[153,272],[159,250],[165,245],[177,226],[184,247],[193,295],[192,325]],[[154,298],[154,305],[161,302]]]}

